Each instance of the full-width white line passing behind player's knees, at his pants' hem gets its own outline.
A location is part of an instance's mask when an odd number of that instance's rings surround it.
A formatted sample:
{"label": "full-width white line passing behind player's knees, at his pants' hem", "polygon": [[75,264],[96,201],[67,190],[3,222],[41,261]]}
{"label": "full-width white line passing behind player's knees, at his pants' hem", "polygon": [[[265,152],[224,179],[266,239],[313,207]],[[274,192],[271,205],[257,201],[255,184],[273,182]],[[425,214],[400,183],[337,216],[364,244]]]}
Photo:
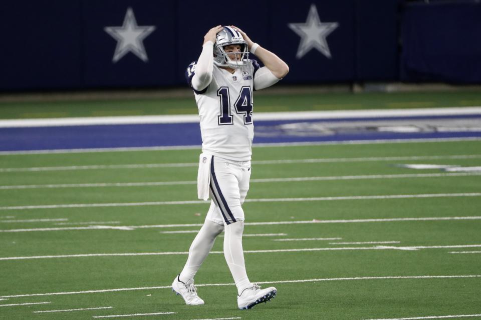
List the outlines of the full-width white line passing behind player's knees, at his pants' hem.
{"label": "full-width white line passing behind player's knees, at his pants' hem", "polygon": [[[276,224],[310,224],[310,223],[365,223],[365,222],[397,222],[397,221],[445,221],[445,220],[479,220],[481,216],[441,216],[441,217],[409,217],[409,218],[374,218],[374,219],[340,219],[340,220],[298,220],[298,221],[265,221],[265,222],[246,222],[245,225],[276,225]],[[62,230],[100,230],[115,228],[119,230],[133,230],[144,228],[168,228],[168,227],[187,227],[202,226],[202,223],[186,224],[148,224],[148,225],[123,225],[123,226],[69,226],[56,228],[31,228],[31,229],[0,229],[0,232],[33,232],[33,231],[62,231]]]}

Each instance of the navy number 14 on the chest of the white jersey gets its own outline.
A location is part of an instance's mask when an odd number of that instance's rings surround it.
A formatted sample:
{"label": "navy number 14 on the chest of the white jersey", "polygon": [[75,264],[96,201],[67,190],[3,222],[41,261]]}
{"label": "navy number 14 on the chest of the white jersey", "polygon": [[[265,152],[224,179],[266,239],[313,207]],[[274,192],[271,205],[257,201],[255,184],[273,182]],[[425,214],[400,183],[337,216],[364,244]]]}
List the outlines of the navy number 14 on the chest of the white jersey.
{"label": "navy number 14 on the chest of the white jersey", "polygon": [[[219,125],[234,124],[232,114],[230,113],[229,87],[221,86],[217,90],[217,96],[220,98],[220,115],[218,116]],[[244,124],[252,124],[253,105],[251,87],[243,86],[234,103],[234,108],[237,114],[244,113]]]}

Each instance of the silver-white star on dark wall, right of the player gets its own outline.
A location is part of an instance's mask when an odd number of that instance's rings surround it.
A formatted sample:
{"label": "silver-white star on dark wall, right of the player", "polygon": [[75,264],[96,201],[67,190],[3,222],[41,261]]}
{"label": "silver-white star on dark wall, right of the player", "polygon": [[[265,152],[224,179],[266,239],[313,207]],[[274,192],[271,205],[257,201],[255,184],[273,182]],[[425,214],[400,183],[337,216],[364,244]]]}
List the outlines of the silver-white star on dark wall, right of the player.
{"label": "silver-white star on dark wall, right of the player", "polygon": [[339,26],[337,22],[321,22],[315,4],[311,4],[306,23],[289,23],[288,26],[301,37],[296,58],[302,58],[312,48],[331,58],[326,37]]}

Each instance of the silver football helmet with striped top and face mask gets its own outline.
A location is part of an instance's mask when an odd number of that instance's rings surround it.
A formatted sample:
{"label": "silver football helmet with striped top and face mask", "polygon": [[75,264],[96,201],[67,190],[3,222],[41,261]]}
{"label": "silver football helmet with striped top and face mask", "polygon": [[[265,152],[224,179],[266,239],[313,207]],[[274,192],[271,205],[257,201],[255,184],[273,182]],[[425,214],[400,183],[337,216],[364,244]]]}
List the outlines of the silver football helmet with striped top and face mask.
{"label": "silver football helmet with striped top and face mask", "polygon": [[[228,66],[231,68],[239,68],[247,64],[247,59],[249,58],[249,50],[247,47],[247,42],[240,32],[234,30],[232,27],[223,25],[223,29],[217,32],[215,36],[214,43],[214,64],[217,66]],[[232,60],[224,50],[226,45],[239,44],[240,54],[239,60]]]}

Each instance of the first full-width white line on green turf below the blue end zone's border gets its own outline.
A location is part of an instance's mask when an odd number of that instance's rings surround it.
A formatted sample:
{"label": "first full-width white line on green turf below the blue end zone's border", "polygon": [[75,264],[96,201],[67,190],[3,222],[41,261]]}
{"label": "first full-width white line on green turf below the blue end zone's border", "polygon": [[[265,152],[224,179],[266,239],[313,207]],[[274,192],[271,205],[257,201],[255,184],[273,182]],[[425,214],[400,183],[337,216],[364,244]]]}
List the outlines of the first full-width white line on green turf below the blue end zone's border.
{"label": "first full-width white line on green turf below the blue end zone's border", "polygon": [[[1,154],[1,153],[0,153]],[[364,162],[364,161],[404,161],[404,160],[442,160],[442,159],[479,159],[481,154],[455,155],[413,155],[413,156],[381,156],[381,157],[345,157],[345,158],[309,158],[309,159],[279,159],[253,160],[254,164],[291,164],[291,163],[329,163],[329,162]],[[93,170],[93,169],[143,169],[169,167],[197,167],[198,162],[184,163],[145,163],[145,164],[95,164],[68,166],[39,166],[20,168],[0,168],[0,172],[29,172],[29,171],[61,171],[61,170]]]}

